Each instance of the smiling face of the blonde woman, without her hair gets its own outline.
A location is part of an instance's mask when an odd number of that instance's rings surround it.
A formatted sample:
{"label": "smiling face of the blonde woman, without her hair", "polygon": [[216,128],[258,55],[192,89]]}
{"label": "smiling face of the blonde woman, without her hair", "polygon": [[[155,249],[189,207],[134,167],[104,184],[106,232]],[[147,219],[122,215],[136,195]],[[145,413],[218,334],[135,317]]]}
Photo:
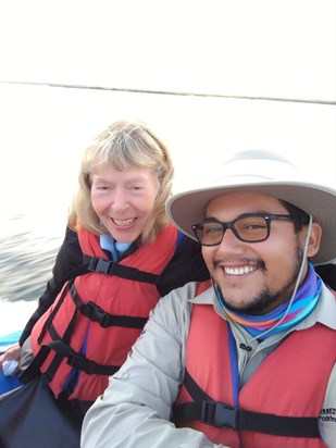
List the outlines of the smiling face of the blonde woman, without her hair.
{"label": "smiling face of the blonde woman, without her hair", "polygon": [[153,211],[159,187],[150,169],[135,166],[117,171],[104,164],[92,174],[92,207],[115,240],[133,242]]}

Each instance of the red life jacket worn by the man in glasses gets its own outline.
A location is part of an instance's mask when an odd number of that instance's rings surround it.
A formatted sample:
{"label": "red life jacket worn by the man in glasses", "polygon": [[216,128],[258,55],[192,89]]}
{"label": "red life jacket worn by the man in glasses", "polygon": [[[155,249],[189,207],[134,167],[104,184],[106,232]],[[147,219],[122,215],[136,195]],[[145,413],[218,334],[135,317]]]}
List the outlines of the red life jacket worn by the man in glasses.
{"label": "red life jacket worn by the man in glasses", "polygon": [[[325,447],[318,421],[336,361],[335,347],[335,332],[322,324],[293,332],[241,387],[237,409],[228,324],[212,306],[194,304],[186,379],[174,407],[174,422],[232,448]],[[269,433],[260,432],[265,428],[264,423],[260,427],[260,419],[264,419]],[[310,436],[297,436],[301,424]],[[289,433],[284,435],[283,430]]]}

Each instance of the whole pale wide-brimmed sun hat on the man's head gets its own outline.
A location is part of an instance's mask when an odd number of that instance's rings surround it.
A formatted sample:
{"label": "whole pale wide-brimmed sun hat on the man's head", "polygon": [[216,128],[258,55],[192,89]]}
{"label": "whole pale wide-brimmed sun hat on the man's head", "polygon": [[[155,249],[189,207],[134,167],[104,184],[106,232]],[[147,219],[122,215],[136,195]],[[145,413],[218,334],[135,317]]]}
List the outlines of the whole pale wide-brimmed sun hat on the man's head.
{"label": "whole pale wide-brimmed sun hat on the man's head", "polygon": [[196,239],[191,225],[204,220],[209,202],[224,194],[252,191],[287,201],[322,227],[319,252],[313,264],[336,260],[336,190],[328,186],[304,182],[286,159],[269,151],[244,151],[223,166],[225,176],[207,188],[172,196],[166,203],[171,221],[184,234]]}

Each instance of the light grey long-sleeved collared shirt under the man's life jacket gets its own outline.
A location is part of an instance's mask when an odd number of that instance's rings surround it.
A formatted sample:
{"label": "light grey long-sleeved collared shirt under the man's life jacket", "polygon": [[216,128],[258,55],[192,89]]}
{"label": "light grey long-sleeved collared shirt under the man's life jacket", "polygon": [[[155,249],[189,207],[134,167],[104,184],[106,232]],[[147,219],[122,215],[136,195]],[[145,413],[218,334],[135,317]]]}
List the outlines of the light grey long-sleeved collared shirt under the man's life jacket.
{"label": "light grey long-sleeved collared shirt under the man's life jacket", "polygon": [[[213,303],[215,312],[227,320],[217,306],[212,288],[196,299],[189,299],[194,298],[196,287],[196,283],[189,283],[159,301],[127,361],[110,378],[103,396],[87,412],[82,433],[83,448],[222,447],[211,443],[200,432],[176,428],[170,422],[172,405],[184,381],[192,302]],[[251,351],[238,350],[240,384],[253,374],[271,346],[279,344],[289,332],[307,328],[315,322],[336,329],[336,301],[326,286],[323,286],[314,311],[296,327],[260,344],[252,341]],[[244,328],[231,326],[237,346],[250,340]],[[321,413],[320,433],[326,446],[335,448],[336,366],[328,382],[323,409],[327,411]]]}

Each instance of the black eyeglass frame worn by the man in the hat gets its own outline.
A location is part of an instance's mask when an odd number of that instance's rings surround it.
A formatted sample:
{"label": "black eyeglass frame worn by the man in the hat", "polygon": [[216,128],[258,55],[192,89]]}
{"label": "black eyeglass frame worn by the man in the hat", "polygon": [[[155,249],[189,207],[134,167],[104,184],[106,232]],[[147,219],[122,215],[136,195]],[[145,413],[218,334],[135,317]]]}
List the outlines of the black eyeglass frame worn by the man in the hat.
{"label": "black eyeglass frame worn by the man in the hat", "polygon": [[[266,233],[266,236],[265,236],[264,238],[262,238],[262,239],[254,239],[254,240],[246,240],[246,239],[244,239],[244,238],[240,237],[238,231],[237,231],[236,227],[235,227],[235,223],[236,223],[237,221],[240,221],[240,220],[244,220],[245,217],[250,217],[250,216],[251,216],[251,217],[254,217],[254,216],[256,216],[256,217],[263,217],[263,219],[265,220],[267,233]],[[202,222],[200,222],[200,223],[192,224],[192,225],[191,225],[191,228],[192,228],[192,232],[194,232],[194,234],[195,234],[195,236],[196,236],[197,241],[198,241],[201,246],[206,246],[206,247],[213,247],[213,246],[219,246],[219,245],[221,245],[221,242],[223,241],[225,232],[226,232],[228,228],[232,229],[233,234],[235,235],[235,237],[236,237],[237,239],[239,239],[239,241],[242,241],[242,242],[262,242],[262,241],[265,241],[265,240],[270,237],[270,234],[271,234],[271,222],[272,222],[272,221],[290,221],[290,222],[293,222],[293,223],[308,224],[308,223],[309,223],[309,216],[308,216],[308,220],[307,220],[307,217],[303,216],[303,215],[293,216],[293,215],[290,215],[290,214],[276,214],[276,213],[246,213],[246,214],[242,214],[242,215],[239,216],[239,217],[236,217],[234,221],[227,221],[227,222],[219,221],[219,220],[216,220],[216,219],[209,219],[209,220],[206,219],[204,221],[202,221]],[[212,245],[204,245],[203,242],[201,242],[201,241],[199,240],[198,235],[197,235],[197,227],[198,227],[199,225],[207,224],[207,223],[216,223],[216,224],[220,224],[220,225],[222,226],[222,228],[223,228],[223,235],[222,235],[222,238],[221,238],[221,240],[220,240],[219,242],[215,242],[215,244],[212,244]]]}

